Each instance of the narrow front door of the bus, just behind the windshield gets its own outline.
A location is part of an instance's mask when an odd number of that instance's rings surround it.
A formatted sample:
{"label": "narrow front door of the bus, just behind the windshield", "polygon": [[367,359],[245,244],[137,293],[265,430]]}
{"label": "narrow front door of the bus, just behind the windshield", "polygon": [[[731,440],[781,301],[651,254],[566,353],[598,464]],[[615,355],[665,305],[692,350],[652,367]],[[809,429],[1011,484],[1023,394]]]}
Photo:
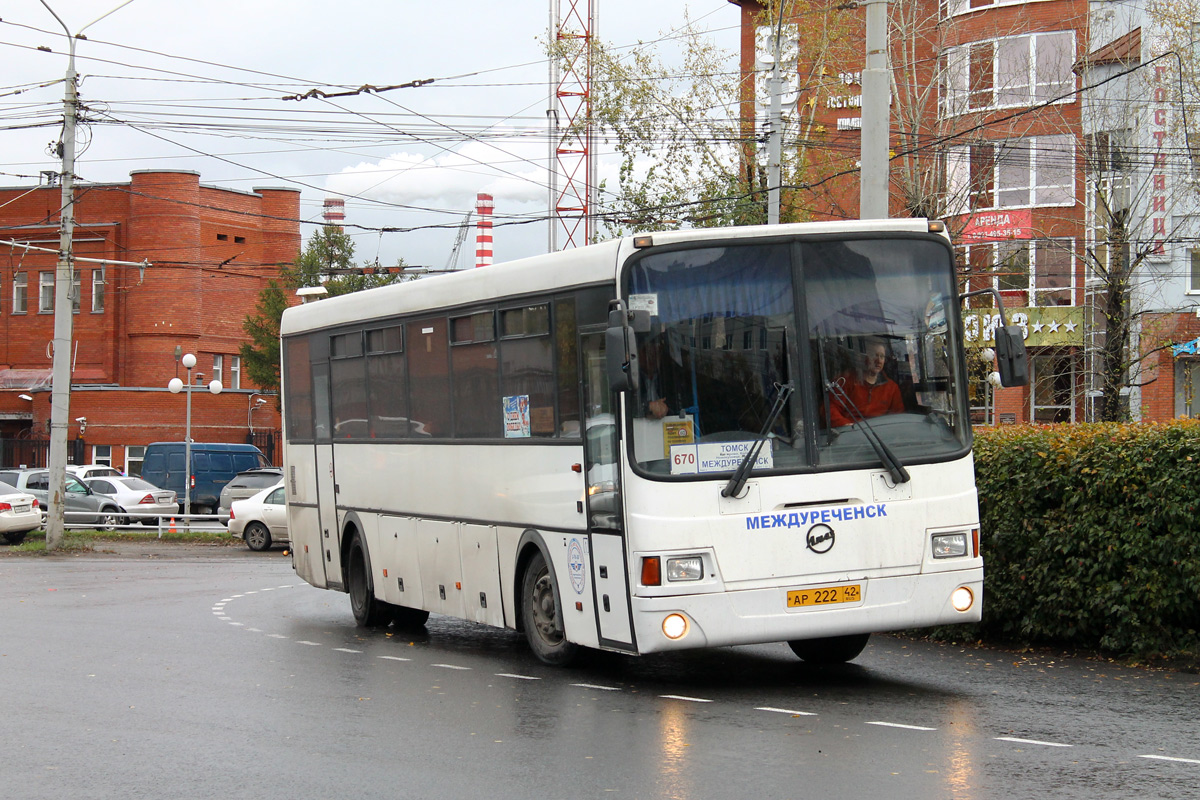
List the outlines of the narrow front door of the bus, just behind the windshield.
{"label": "narrow front door of the bus, just behind the windshield", "polygon": [[608,387],[602,329],[580,333],[580,368],[583,374],[583,461],[592,588],[600,645],[636,652],[622,522],[620,414]]}

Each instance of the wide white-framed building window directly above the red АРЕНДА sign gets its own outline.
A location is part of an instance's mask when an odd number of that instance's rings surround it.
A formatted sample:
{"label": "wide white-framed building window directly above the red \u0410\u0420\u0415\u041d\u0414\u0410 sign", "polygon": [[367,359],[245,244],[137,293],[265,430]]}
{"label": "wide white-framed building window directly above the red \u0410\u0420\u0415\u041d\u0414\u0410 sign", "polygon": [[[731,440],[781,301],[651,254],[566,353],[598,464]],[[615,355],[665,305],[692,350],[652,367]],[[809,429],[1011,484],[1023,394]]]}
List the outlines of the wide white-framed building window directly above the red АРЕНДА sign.
{"label": "wide white-framed building window directly above the red \u0410\u0420\u0415\u041d\u0414\u0410 sign", "polygon": [[1075,203],[1075,145],[1069,136],[950,148],[947,158],[953,213]]}

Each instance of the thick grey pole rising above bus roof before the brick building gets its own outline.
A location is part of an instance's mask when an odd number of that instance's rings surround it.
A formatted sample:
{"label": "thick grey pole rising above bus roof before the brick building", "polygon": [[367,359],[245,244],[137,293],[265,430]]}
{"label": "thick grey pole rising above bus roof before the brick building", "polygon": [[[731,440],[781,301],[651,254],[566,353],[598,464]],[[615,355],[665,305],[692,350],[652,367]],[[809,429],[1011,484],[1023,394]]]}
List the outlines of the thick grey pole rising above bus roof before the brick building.
{"label": "thick grey pole rising above bus roof before the brick building", "polygon": [[888,217],[888,131],[892,127],[888,66],[888,2],[864,0],[866,64],[863,70],[863,134],[858,184],[858,216]]}

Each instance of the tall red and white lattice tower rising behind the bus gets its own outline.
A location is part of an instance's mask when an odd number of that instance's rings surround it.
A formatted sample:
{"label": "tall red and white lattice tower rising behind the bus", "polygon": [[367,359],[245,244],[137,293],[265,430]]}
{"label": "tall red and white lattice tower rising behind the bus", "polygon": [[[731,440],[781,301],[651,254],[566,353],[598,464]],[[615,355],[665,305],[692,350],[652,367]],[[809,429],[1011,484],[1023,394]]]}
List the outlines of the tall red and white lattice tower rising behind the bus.
{"label": "tall red and white lattice tower rising behind the bus", "polygon": [[582,247],[595,234],[595,131],[592,119],[592,46],[598,0],[550,0],[552,41],[562,58],[550,59],[553,92],[550,146],[550,249]]}

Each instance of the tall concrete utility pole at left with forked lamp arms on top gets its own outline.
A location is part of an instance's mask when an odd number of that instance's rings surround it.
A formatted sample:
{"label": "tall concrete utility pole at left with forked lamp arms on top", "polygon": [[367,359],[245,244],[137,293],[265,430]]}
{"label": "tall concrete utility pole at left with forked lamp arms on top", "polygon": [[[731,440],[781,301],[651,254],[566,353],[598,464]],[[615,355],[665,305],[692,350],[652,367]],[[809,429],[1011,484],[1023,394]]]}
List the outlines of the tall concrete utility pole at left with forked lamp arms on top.
{"label": "tall concrete utility pole at left with forked lamp arms on top", "polygon": [[54,350],[50,386],[50,452],[49,452],[49,509],[46,518],[46,549],[56,549],[62,543],[65,525],[64,506],[67,491],[67,425],[71,419],[71,287],[74,275],[72,237],[74,236],[74,128],[79,107],[76,86],[74,43],[90,25],[133,2],[125,0],[102,17],[97,17],[71,35],[54,10],[42,0],[46,10],[62,25],[67,35],[66,96],[62,100],[62,207],[59,211],[59,265],[54,275]]}

